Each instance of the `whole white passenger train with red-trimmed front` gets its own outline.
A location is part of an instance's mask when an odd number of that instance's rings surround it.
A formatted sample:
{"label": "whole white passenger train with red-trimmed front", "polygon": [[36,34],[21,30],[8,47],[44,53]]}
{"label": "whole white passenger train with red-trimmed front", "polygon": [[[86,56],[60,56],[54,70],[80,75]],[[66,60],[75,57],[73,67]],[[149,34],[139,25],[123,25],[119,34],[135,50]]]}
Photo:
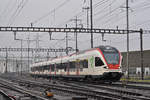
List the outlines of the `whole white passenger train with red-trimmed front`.
{"label": "whole white passenger train with red-trimmed front", "polygon": [[111,46],[99,46],[50,61],[34,63],[31,75],[75,80],[119,81],[121,53]]}

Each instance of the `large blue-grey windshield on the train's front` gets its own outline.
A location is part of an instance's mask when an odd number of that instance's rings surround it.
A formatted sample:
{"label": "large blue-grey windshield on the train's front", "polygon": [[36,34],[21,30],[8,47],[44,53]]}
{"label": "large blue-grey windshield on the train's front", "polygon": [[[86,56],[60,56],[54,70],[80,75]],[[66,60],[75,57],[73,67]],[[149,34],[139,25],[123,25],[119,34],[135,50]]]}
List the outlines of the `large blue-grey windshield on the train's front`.
{"label": "large blue-grey windshield on the train's front", "polygon": [[119,64],[119,54],[118,53],[104,53],[104,57],[108,64]]}

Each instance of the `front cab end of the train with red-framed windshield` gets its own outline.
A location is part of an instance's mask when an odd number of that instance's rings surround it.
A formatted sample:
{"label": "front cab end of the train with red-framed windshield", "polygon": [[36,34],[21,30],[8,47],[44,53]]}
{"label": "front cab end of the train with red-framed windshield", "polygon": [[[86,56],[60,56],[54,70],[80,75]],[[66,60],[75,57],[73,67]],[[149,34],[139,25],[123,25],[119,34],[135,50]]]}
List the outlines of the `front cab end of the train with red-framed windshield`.
{"label": "front cab end of the train with red-framed windshield", "polygon": [[98,48],[99,52],[103,56],[103,60],[105,63],[104,73],[100,77],[100,80],[104,82],[116,82],[119,81],[122,77],[122,70],[121,70],[121,59],[122,56],[120,52],[113,47],[101,47]]}

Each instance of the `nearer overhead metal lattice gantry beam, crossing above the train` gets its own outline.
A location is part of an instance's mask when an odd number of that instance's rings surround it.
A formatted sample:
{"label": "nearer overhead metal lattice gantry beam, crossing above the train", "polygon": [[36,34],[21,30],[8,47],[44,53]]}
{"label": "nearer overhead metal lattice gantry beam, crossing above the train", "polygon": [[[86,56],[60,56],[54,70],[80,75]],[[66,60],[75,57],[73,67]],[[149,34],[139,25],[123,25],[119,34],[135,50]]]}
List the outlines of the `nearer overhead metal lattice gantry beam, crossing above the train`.
{"label": "nearer overhead metal lattice gantry beam, crossing above the train", "polygon": [[[0,27],[1,32],[69,32],[69,33],[105,33],[127,34],[123,29],[89,29],[89,28],[50,28],[50,27]],[[128,30],[129,33],[139,33],[140,30]]]}

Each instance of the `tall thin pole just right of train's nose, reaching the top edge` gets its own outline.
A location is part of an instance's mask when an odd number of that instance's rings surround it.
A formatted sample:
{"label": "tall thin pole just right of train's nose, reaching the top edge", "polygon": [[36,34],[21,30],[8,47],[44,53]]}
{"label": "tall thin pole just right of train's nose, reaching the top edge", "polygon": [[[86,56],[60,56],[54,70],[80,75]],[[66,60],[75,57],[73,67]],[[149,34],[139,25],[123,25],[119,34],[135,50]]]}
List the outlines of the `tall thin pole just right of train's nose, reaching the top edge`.
{"label": "tall thin pole just right of train's nose, reaching the top edge", "polygon": [[127,15],[127,78],[129,79],[129,1],[126,0],[126,15]]}

